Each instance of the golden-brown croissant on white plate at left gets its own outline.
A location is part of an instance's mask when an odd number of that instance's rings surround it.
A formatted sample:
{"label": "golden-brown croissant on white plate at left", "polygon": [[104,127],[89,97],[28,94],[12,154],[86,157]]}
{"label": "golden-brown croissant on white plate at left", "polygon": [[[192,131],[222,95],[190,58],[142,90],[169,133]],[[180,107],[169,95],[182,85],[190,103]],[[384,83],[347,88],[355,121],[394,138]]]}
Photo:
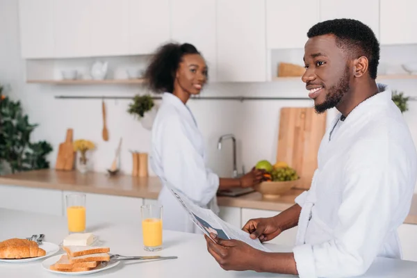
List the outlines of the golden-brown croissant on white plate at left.
{"label": "golden-brown croissant on white plate at left", "polygon": [[10,238],[0,242],[0,259],[24,259],[46,254],[33,240]]}

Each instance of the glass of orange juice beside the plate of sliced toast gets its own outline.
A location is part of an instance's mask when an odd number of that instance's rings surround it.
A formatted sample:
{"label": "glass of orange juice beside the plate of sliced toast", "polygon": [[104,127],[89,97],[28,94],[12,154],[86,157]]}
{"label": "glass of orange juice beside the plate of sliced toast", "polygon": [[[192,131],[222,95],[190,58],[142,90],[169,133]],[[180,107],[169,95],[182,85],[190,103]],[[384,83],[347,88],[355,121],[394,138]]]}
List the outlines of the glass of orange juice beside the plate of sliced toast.
{"label": "glass of orange juice beside the plate of sliced toast", "polygon": [[146,251],[162,250],[162,206],[140,206],[142,214],[143,246]]}

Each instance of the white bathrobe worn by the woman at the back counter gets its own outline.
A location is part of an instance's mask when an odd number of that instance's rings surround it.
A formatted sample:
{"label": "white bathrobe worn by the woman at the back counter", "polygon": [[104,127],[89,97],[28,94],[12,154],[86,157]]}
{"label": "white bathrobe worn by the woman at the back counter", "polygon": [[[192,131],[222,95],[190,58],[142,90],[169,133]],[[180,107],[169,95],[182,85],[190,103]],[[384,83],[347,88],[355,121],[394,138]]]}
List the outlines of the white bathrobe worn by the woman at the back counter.
{"label": "white bathrobe worn by the woman at the back counter", "polygon": [[202,208],[219,212],[219,177],[206,167],[205,156],[204,140],[193,114],[178,97],[165,92],[152,126],[150,156],[152,170],[163,183],[158,201],[163,205],[164,229],[202,234],[165,181]]}

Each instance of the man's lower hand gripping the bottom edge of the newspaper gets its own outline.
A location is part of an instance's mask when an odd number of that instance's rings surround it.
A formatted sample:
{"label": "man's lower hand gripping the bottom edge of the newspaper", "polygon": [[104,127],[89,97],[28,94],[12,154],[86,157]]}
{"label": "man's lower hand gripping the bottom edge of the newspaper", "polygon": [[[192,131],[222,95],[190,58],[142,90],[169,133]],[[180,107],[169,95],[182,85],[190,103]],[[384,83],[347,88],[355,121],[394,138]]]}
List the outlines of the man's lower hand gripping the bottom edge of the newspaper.
{"label": "man's lower hand gripping the bottom edge of the newspaper", "polygon": [[207,250],[224,270],[259,271],[262,251],[256,250],[240,240],[224,240],[210,234],[213,240],[204,235]]}

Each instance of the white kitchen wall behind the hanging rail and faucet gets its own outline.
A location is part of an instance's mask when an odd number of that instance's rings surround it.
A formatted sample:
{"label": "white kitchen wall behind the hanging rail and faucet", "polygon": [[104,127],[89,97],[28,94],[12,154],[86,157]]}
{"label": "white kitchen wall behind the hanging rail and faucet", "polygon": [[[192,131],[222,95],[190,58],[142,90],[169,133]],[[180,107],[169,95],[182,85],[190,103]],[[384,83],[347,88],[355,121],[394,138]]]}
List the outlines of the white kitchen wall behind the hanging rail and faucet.
{"label": "white kitchen wall behind the hanging rail and faucet", "polygon": [[[8,95],[13,99],[21,100],[24,111],[29,115],[29,120],[40,124],[35,129],[32,139],[48,140],[54,145],[54,152],[49,156],[51,165],[55,164],[58,144],[65,140],[65,130],[72,127],[74,138],[87,138],[97,143],[98,149],[92,157],[97,171],[105,171],[111,166],[118,140],[122,136],[121,167],[124,172],[130,173],[132,160],[129,150],[148,152],[150,133],[126,113],[129,101],[106,101],[110,140],[104,142],[101,139],[101,100],[55,99],[54,96],[133,96],[141,92],[140,89],[132,85],[26,84],[24,63],[20,58],[17,1],[15,0],[0,0],[0,38],[0,82],[10,84],[11,90]],[[391,52],[390,49],[382,51],[382,58],[384,59],[384,53]],[[402,54],[402,58],[409,58],[409,53]],[[403,90],[406,95],[417,96],[415,79],[387,80],[386,83],[392,88]],[[208,85],[202,95],[306,97],[306,90],[301,81],[224,83]],[[208,165],[224,177],[231,174],[231,142],[225,142],[224,149],[218,151],[219,136],[224,133],[235,134],[238,139],[238,170],[241,170],[243,164],[246,170],[249,170],[260,159],[275,161],[279,109],[283,106],[311,105],[312,102],[309,100],[244,101],[243,103],[240,101],[190,101],[190,108],[195,113],[206,139]],[[417,142],[417,101],[410,101],[409,109],[410,111],[404,113],[404,117]],[[333,112],[329,113],[331,117],[334,115]],[[152,170],[149,170],[153,175]]]}

